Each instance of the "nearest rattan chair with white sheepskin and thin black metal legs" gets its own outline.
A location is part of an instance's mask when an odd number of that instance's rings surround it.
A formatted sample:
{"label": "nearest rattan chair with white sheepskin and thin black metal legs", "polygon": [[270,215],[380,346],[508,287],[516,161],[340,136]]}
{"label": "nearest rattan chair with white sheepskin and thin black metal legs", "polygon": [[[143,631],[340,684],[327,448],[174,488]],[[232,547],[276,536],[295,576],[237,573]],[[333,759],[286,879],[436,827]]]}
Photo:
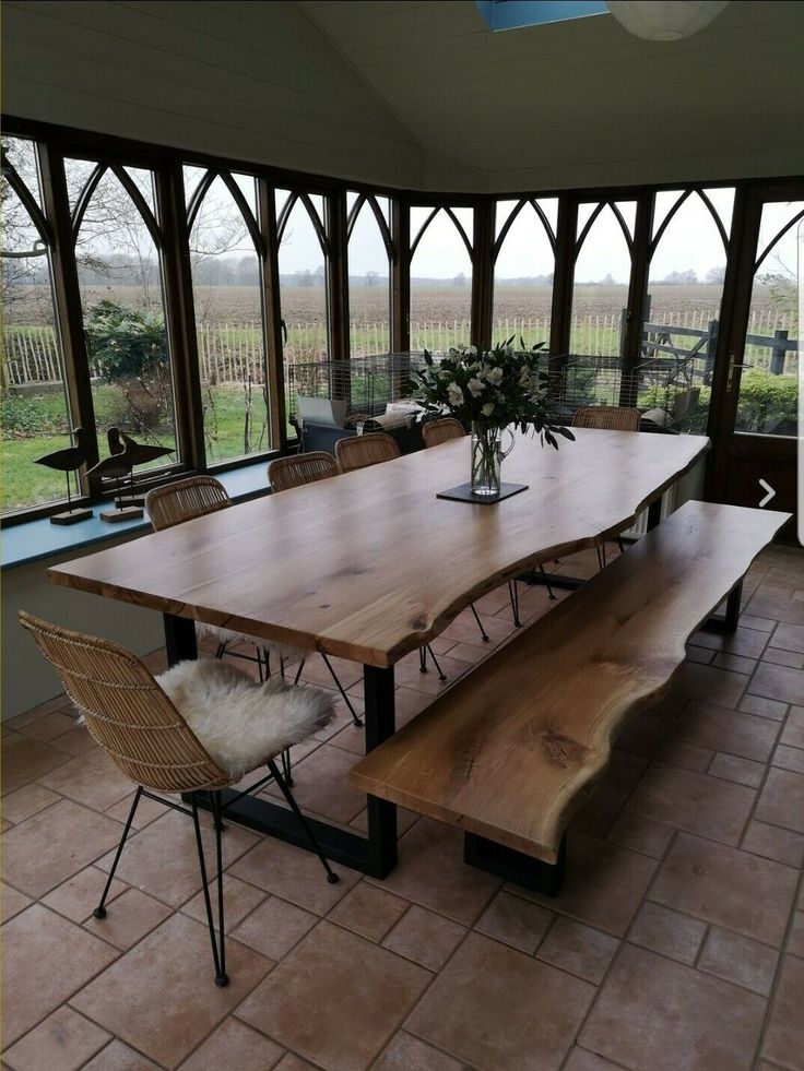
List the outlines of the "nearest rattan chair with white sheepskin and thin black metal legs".
{"label": "nearest rattan chair with white sheepskin and thin black metal legs", "polygon": [[[328,881],[338,881],[275,763],[283,749],[330,721],[330,695],[320,689],[298,688],[281,680],[258,685],[243,669],[213,658],[180,663],[163,677],[154,678],[135,655],[117,643],[62,629],[23,611],[20,623],[55,666],[64,691],[82,712],[91,736],[138,786],[106,886],[93,914],[96,918],[106,916],[106,897],[142,796],[191,816],[215,985],[227,985],[221,831],[227,808],[247,793],[238,793],[224,802],[221,792],[267,765],[268,776],[247,792],[255,792],[273,780],[323,864]],[[307,700],[304,704],[303,694]],[[259,718],[255,718],[256,702]],[[220,715],[224,705],[226,725],[222,730]],[[159,793],[189,795],[190,809]],[[217,937],[201,842],[199,794],[209,795],[215,828]],[[79,829],[75,835],[81,835]]]}

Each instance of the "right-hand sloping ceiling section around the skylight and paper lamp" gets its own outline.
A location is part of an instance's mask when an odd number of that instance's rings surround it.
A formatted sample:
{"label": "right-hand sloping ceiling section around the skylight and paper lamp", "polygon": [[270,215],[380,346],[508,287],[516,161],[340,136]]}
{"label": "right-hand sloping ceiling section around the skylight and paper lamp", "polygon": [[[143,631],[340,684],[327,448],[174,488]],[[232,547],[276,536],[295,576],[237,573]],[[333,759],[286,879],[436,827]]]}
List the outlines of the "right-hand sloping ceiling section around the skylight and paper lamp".
{"label": "right-hand sloping ceiling section around the skylight and paper lamp", "polygon": [[700,34],[610,15],[492,33],[471,0],[297,0],[421,145],[423,185],[542,189],[804,170],[804,3]]}

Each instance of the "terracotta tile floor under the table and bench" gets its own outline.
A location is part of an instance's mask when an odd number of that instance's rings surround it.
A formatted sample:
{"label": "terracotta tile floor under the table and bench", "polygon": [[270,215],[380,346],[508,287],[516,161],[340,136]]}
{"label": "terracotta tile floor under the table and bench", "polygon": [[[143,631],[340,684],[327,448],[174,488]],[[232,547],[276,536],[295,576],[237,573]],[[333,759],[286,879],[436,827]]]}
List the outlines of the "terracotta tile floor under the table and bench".
{"label": "terracotta tile floor under the table and bench", "polygon": [[[522,587],[524,616],[551,605]],[[492,643],[469,614],[436,643],[450,683],[511,634],[505,590],[478,610]],[[338,867],[329,885],[310,855],[229,828],[227,989],[191,823],[165,808],[142,806],[92,917],[131,785],[63,697],[28,711],[3,726],[3,1067],[804,1071],[803,652],[804,551],[771,548],[736,634],[695,636],[620,737],[555,900],[465,867],[456,830],[409,812],[385,882]],[[320,659],[306,675],[329,682]],[[397,681],[400,722],[448,687],[416,655]],[[305,807],[356,829],[360,746],[343,709],[295,769]]]}

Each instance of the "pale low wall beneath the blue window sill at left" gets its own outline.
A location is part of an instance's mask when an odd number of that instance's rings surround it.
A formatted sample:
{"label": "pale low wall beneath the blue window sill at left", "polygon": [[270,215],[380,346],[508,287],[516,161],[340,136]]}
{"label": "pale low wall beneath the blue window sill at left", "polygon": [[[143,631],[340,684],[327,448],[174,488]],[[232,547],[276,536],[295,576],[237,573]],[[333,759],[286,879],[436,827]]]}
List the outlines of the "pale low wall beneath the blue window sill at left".
{"label": "pale low wall beneath the blue window sill at left", "polygon": [[[126,542],[126,540],[116,540]],[[104,544],[104,547],[114,544]],[[144,655],[164,646],[162,615],[128,606],[99,595],[74,592],[47,580],[47,569],[81,558],[85,547],[72,555],[8,569],[2,578],[2,712],[3,721],[52,699],[63,691],[55,670],[45,662],[33,639],[20,628],[17,610],[67,628],[78,629],[122,643]]]}

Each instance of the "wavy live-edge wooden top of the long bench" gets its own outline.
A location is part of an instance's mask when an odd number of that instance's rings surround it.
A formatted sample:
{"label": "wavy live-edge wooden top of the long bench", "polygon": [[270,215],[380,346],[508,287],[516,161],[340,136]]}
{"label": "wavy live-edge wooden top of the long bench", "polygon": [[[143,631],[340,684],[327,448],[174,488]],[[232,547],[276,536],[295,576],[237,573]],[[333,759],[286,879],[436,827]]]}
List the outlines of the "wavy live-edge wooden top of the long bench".
{"label": "wavy live-edge wooden top of the long bench", "polygon": [[353,767],[355,788],[554,864],[627,716],[787,513],[687,502]]}

